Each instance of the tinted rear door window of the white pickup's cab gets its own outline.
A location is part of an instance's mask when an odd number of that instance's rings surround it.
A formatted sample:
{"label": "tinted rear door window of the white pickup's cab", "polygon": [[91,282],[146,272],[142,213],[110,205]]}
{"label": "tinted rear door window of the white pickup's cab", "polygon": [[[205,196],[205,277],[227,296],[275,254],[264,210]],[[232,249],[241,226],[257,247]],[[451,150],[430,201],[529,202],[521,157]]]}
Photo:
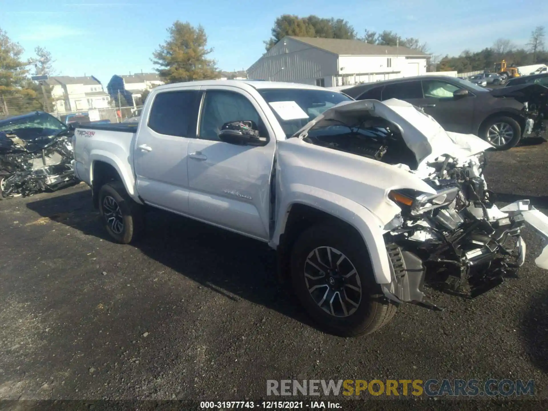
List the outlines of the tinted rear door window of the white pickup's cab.
{"label": "tinted rear door window of the white pickup's cab", "polygon": [[197,90],[159,93],[152,103],[149,127],[159,134],[196,138],[198,95]]}

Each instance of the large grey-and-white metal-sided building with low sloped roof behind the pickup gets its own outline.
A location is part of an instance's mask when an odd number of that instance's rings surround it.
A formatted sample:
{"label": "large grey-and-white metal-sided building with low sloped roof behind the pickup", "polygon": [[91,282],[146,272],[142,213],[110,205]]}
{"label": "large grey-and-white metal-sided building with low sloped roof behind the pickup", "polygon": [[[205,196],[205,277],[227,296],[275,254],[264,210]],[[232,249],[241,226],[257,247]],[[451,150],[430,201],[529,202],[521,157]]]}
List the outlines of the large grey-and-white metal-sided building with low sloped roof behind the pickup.
{"label": "large grey-and-white metal-sided building with low sloped roof behind the pickup", "polygon": [[286,36],[247,70],[248,78],[337,87],[424,75],[429,56],[359,40]]}

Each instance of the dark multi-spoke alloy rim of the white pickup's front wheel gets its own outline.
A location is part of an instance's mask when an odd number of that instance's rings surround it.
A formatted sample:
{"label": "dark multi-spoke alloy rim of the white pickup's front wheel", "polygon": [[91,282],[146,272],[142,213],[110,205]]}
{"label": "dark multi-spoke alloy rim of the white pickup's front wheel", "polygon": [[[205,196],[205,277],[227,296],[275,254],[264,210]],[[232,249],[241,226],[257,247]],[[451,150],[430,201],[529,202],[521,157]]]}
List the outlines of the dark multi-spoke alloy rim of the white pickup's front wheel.
{"label": "dark multi-spoke alloy rim of the white pickup's front wheel", "polygon": [[333,247],[317,247],[307,256],[304,276],[312,299],[335,317],[352,315],[362,301],[356,267]]}

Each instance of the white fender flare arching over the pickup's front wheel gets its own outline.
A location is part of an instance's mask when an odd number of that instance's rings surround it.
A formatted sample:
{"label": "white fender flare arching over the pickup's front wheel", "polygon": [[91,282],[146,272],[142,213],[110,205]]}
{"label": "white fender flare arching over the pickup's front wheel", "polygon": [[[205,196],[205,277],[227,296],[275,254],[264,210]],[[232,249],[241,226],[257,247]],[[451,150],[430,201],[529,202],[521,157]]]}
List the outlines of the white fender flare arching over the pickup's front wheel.
{"label": "white fender flare arching over the pickup's front wheel", "polygon": [[375,281],[379,284],[390,283],[390,264],[380,220],[360,204],[317,187],[302,184],[289,185],[287,195],[283,197],[283,203],[279,204],[276,219],[279,224],[270,242],[271,247],[278,246],[279,236],[285,231],[293,204],[305,204],[316,208],[353,226],[361,234],[367,246]]}

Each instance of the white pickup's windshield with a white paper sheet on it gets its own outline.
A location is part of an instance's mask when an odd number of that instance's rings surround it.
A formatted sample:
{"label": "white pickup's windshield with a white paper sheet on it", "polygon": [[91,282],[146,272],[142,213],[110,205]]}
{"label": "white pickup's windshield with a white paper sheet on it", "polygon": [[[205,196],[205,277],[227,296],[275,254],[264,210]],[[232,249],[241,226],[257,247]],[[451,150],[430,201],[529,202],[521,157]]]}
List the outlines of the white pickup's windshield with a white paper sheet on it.
{"label": "white pickup's windshield with a white paper sheet on it", "polygon": [[[352,101],[345,94],[328,90],[284,88],[259,89],[258,92],[271,106],[287,138],[334,105],[343,101]],[[283,102],[283,105],[276,102]]]}

